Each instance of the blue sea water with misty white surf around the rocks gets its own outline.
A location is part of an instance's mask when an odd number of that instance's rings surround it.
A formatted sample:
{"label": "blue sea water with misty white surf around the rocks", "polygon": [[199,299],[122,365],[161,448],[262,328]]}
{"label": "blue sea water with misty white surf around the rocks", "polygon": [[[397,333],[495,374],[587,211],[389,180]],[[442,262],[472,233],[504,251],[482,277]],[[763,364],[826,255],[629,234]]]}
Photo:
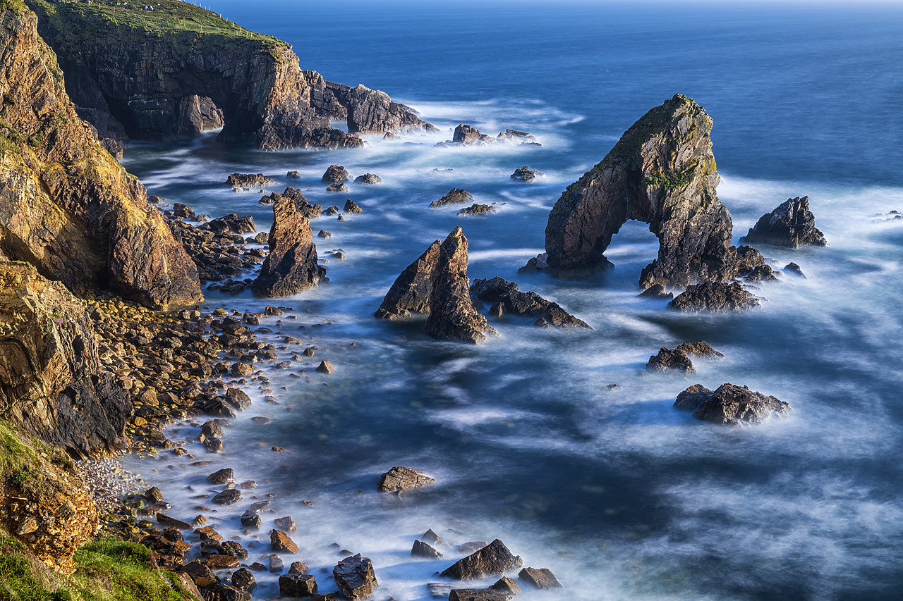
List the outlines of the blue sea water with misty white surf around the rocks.
{"label": "blue sea water with misty white surf around the rocks", "polygon": [[[430,598],[424,583],[462,556],[455,546],[439,561],[411,558],[428,528],[455,545],[500,538],[525,565],[552,569],[564,588],[525,590],[527,601],[899,597],[903,219],[888,214],[903,210],[903,8],[209,2],[291,42],[304,68],[383,89],[442,133],[285,153],[225,148],[206,134],[126,152],[149,193],[213,217],[252,215],[264,231],[271,210],[257,193],[228,190],[229,173],[263,171],[277,180],[272,190],[293,185],[324,207],[350,198],[364,209],[344,223],[312,221],[314,232],[332,233],[317,240],[328,284],[278,302],[249,291],[207,294],[211,307],[290,306],[294,319],[264,319],[275,333],[260,337],[319,348],[289,370],[260,365],[280,404],[249,385],[254,407],[228,429],[226,454],[189,446],[215,465],[182,468],[167,453],[128,460],[182,517],[209,506],[196,498],[215,492],[207,474],[233,467],[239,480],[259,484],[247,503],[275,495],[277,514],[265,520],[298,522],[302,552],[285,559],[303,560],[330,591],[341,558],[330,544],[361,552],[373,559],[382,601]],[[714,120],[718,192],[734,242],[780,202],[809,196],[830,245],[761,248],[807,278],[761,284],[759,310],[676,314],[637,298],[657,243],[636,222],[615,236],[610,272],[579,282],[518,275],[543,250],[561,191],[675,93],[694,97]],[[459,123],[492,135],[526,130],[543,146],[433,146]],[[330,163],[385,183],[349,183],[349,194],[330,195],[320,182]],[[525,164],[545,177],[510,180]],[[303,179],[285,180],[289,170]],[[498,203],[498,213],[428,208],[452,188]],[[396,275],[456,226],[470,241],[471,278],[516,281],[594,330],[507,318],[490,321],[499,337],[473,347],[427,337],[424,319],[373,319]],[[327,255],[335,249],[347,259]],[[644,373],[659,347],[698,339],[725,357],[697,361],[691,377]],[[313,372],[323,358],[335,374]],[[793,411],[721,428],[672,407],[691,384],[725,382],[775,395]],[[197,433],[186,423],[169,435],[191,441]],[[396,465],[438,482],[400,498],[377,494],[378,476]],[[245,508],[203,513],[232,536]],[[244,537],[250,560],[269,552],[270,527],[260,541]],[[275,578],[258,576],[255,597],[276,598]]]}

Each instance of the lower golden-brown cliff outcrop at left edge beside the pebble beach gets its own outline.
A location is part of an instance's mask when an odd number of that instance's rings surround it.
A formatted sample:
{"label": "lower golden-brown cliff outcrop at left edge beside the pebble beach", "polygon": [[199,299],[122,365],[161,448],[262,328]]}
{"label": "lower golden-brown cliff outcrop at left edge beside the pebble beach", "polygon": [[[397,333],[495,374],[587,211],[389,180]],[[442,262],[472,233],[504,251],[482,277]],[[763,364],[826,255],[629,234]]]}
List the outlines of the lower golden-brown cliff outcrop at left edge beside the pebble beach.
{"label": "lower golden-brown cliff outcrop at left edge beside the pebble beach", "polygon": [[102,371],[84,301],[0,262],[0,417],[74,457],[129,448],[132,403]]}

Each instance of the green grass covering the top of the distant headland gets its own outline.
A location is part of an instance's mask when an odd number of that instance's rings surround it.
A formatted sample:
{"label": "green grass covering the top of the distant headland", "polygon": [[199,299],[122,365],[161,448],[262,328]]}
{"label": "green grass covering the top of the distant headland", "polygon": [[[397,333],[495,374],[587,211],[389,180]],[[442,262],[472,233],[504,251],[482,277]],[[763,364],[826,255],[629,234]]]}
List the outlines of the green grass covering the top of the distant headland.
{"label": "green grass covering the top of the distant headland", "polygon": [[[17,2],[18,0],[0,0]],[[26,4],[42,18],[53,23],[58,32],[69,32],[81,41],[100,42],[115,30],[117,41],[128,42],[130,37],[173,36],[181,41],[217,39],[219,41],[255,42],[270,48],[285,46],[270,35],[251,32],[207,9],[182,0],[156,0],[154,10],[144,10],[144,3],[118,3],[118,0],[26,0]],[[129,33],[132,35],[130,36]],[[61,43],[70,42],[63,36]]]}

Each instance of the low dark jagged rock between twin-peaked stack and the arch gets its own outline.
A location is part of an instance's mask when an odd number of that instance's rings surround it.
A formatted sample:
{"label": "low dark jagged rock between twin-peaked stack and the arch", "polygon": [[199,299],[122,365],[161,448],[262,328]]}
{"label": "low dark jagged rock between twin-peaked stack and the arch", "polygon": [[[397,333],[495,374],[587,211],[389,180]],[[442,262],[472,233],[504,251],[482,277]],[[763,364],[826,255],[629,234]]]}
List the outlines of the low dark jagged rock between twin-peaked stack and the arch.
{"label": "low dark jagged rock between twin-peaked stack and the arch", "polygon": [[517,283],[494,277],[491,280],[474,280],[470,295],[493,303],[489,315],[501,317],[505,314],[535,318],[535,325],[554,328],[592,329],[582,319],[577,319],[563,310],[557,302],[546,301],[535,292],[517,290]]}

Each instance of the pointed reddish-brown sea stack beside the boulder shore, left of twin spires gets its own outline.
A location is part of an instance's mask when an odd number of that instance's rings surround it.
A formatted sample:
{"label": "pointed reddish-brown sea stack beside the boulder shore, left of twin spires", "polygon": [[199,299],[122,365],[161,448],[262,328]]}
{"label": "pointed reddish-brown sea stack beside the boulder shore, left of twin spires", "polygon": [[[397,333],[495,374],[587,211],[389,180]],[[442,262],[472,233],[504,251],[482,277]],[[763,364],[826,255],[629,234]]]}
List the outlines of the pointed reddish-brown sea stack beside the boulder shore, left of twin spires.
{"label": "pointed reddish-brown sea stack beside the boulder shore, left of twin spires", "polygon": [[273,204],[269,254],[260,274],[251,284],[257,296],[280,297],[298,294],[325,280],[326,270],[317,263],[311,224],[297,210],[293,199]]}

